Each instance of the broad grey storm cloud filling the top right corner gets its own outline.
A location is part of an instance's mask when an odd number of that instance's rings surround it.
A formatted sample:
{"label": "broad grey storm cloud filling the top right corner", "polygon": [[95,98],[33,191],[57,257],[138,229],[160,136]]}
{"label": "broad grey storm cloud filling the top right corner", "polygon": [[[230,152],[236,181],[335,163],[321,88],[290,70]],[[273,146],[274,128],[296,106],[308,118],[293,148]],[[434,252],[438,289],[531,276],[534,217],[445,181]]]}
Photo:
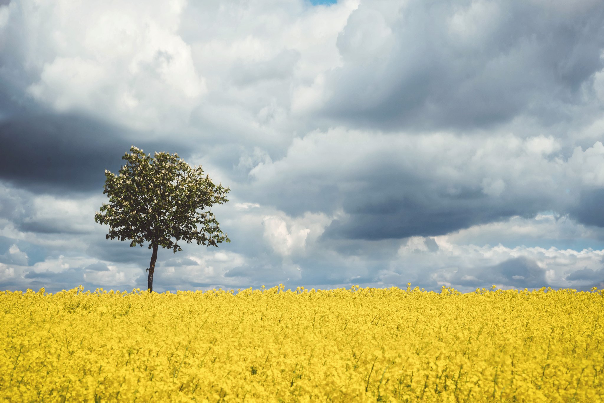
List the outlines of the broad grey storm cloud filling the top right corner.
{"label": "broad grey storm cloud filling the top right corner", "polygon": [[570,118],[603,67],[604,3],[578,3],[415,0],[396,15],[362,3],[338,37],[323,115],[382,129]]}

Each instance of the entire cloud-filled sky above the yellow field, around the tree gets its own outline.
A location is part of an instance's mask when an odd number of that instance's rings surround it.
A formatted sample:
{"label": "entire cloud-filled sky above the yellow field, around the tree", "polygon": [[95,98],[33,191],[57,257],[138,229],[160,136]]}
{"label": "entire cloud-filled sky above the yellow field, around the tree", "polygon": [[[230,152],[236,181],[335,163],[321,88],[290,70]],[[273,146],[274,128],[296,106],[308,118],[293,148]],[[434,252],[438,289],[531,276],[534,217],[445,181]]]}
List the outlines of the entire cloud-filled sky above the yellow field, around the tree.
{"label": "entire cloud-filled sky above the yellow field, around the tree", "polygon": [[136,146],[230,187],[154,291],[604,288],[600,0],[0,1],[0,290],[147,288]]}

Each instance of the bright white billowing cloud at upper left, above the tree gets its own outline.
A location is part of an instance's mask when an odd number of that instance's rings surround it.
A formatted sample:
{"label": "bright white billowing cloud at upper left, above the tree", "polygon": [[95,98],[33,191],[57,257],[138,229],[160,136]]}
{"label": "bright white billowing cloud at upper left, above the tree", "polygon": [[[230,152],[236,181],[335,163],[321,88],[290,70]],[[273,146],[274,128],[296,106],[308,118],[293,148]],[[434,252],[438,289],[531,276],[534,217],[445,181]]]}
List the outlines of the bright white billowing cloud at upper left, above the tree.
{"label": "bright white billowing cloud at upper left, above the tree", "polygon": [[207,92],[191,47],[178,34],[185,3],[101,5],[24,2],[28,87],[59,112],[111,118],[134,129],[178,129]]}

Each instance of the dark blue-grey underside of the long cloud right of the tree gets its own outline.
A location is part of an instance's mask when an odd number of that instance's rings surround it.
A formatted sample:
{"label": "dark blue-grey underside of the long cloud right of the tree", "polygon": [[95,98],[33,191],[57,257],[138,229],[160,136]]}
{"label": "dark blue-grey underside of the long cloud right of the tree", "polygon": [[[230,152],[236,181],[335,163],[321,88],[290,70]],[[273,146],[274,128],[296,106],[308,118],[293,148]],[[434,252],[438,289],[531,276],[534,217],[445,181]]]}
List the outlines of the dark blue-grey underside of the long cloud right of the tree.
{"label": "dark blue-grey underside of the long cloud right of the tree", "polygon": [[334,220],[322,239],[437,236],[510,216],[533,218],[555,205],[553,199],[535,193],[493,198],[478,184],[454,185],[450,192],[451,184],[438,179],[425,183],[417,172],[400,168],[369,167],[367,175],[371,180],[355,181],[353,192],[347,192],[342,201],[349,216]]}

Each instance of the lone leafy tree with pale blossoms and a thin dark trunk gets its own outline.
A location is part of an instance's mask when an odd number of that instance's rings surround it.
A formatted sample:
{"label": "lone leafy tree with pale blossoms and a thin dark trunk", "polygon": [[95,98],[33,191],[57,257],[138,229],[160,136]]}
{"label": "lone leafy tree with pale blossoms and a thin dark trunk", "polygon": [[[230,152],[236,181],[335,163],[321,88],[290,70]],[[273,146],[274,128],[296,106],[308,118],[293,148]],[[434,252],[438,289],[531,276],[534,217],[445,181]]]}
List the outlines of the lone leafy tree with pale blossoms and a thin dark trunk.
{"label": "lone leafy tree with pale blossoms and a thin dark trunk", "polygon": [[110,204],[103,203],[94,221],[111,227],[106,239],[132,240],[130,247],[149,242],[149,249],[153,249],[147,269],[149,292],[153,291],[158,247],[172,248],[176,253],[182,251],[176,243],[181,239],[208,247],[231,242],[220,231],[214,214],[205,210],[228,202],[225,195],[231,189],[214,185],[208,175],[204,178],[201,166],[191,169],[176,153],[156,152],[152,158],[135,146],[121,159],[128,164],[120,169],[119,176],[105,170],[103,194],[107,193]]}

